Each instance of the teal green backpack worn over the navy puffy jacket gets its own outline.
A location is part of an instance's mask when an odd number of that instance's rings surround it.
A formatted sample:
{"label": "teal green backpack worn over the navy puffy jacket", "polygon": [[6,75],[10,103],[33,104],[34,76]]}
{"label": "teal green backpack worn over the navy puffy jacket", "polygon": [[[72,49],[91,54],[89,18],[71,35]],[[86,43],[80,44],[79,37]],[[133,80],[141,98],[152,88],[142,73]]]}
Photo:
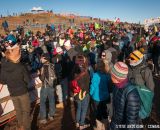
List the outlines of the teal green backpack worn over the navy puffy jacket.
{"label": "teal green backpack worn over the navy puffy jacket", "polygon": [[149,117],[151,111],[152,111],[152,102],[153,102],[153,96],[154,93],[149,90],[145,85],[138,86],[138,85],[130,85],[128,87],[127,95],[133,90],[137,89],[140,99],[141,99],[141,107],[139,111],[139,117],[140,119],[145,119]]}

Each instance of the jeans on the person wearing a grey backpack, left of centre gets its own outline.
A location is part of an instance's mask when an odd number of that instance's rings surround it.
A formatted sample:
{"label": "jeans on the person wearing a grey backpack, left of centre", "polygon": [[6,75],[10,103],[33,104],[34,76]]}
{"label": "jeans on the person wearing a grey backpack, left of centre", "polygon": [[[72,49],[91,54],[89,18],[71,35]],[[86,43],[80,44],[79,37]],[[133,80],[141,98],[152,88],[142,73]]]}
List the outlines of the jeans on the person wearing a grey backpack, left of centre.
{"label": "jeans on the person wearing a grey backpack, left of centre", "polygon": [[49,116],[55,114],[55,97],[53,87],[42,87],[40,92],[40,118],[46,119],[46,99],[49,100]]}

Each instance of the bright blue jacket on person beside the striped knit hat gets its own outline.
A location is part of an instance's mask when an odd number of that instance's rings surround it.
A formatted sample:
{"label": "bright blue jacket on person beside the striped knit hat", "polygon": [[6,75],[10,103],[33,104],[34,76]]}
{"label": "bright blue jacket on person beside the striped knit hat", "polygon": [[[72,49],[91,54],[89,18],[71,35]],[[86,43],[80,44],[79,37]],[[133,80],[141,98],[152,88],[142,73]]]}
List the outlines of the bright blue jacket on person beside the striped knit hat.
{"label": "bright blue jacket on person beside the striped knit hat", "polygon": [[110,76],[105,73],[96,72],[93,74],[93,78],[90,86],[90,95],[95,101],[105,101],[109,98]]}

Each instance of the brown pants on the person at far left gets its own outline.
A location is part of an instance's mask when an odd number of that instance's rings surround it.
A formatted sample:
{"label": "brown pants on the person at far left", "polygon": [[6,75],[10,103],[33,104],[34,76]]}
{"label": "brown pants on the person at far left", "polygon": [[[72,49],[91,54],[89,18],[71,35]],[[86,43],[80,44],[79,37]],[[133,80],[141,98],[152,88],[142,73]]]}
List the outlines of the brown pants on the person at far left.
{"label": "brown pants on the person at far left", "polygon": [[16,110],[18,126],[23,126],[24,130],[31,130],[29,94],[26,93],[11,98]]}

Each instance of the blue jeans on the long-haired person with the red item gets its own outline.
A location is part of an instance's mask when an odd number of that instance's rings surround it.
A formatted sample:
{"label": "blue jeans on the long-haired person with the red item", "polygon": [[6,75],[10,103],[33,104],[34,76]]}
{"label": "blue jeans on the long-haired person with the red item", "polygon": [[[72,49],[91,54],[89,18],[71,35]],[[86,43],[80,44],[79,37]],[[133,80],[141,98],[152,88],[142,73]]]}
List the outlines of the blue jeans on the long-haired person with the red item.
{"label": "blue jeans on the long-haired person with the red item", "polygon": [[77,100],[77,110],[76,110],[76,122],[80,125],[85,124],[85,118],[89,105],[89,94],[83,100]]}

